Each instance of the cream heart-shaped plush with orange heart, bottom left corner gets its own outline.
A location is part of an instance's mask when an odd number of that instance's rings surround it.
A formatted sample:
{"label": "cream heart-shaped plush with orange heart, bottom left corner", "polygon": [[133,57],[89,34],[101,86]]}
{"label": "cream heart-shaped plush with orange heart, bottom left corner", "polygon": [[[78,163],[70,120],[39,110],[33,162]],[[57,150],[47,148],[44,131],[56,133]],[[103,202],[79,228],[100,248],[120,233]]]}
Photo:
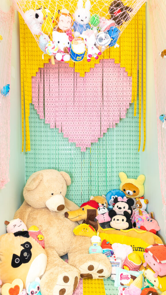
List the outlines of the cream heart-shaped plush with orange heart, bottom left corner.
{"label": "cream heart-shaped plush with orange heart, bottom left corner", "polygon": [[1,288],[1,295],[18,295],[23,290],[23,281],[16,278],[12,283],[6,283]]}

